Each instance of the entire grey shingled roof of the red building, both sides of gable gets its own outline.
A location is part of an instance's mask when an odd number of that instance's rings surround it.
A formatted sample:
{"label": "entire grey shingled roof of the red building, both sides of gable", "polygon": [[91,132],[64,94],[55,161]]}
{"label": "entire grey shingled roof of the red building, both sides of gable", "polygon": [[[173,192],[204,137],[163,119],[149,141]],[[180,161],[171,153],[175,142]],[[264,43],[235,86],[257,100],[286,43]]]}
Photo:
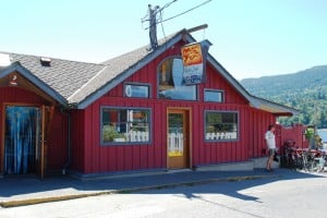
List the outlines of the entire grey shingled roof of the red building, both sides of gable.
{"label": "entire grey shingled roof of the red building, both sides of gable", "polygon": [[[142,47],[125,55],[105,61],[104,63],[85,63],[61,59],[51,59],[50,66],[40,64],[40,57],[8,53],[12,62],[19,62],[29,77],[36,76],[46,90],[55,90],[62,98],[59,102],[77,109],[85,109],[125,78],[141,70],[155,58],[164,53],[180,40],[196,41],[186,29],[159,40],[156,50]],[[205,41],[210,44],[209,41]],[[3,53],[3,52],[2,52]],[[4,52],[5,53],[5,52]],[[262,98],[252,96],[213,56],[208,53],[207,61],[239,92],[254,108],[275,114],[294,114],[299,111]],[[0,69],[0,77],[1,77]],[[33,81],[32,81],[33,82]],[[35,81],[36,82],[36,81]],[[51,94],[50,96],[53,96]]]}

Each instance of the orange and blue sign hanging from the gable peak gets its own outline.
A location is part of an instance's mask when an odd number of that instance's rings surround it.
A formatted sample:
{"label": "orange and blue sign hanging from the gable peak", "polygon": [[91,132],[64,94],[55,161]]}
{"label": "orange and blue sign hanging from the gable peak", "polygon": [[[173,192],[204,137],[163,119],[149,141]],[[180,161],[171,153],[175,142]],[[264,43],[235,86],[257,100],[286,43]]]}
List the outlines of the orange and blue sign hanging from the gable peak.
{"label": "orange and blue sign hanging from the gable peak", "polygon": [[183,58],[183,81],[185,85],[199,84],[205,78],[208,46],[202,43],[189,44],[181,48]]}

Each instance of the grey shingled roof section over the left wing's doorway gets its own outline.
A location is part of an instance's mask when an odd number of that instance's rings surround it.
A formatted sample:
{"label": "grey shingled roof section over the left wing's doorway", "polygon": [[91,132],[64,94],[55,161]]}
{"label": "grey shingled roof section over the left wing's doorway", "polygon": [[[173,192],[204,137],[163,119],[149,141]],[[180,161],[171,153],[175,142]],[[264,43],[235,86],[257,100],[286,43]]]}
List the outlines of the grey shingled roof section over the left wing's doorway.
{"label": "grey shingled roof section over the left wing's doorway", "polygon": [[[41,57],[9,52],[1,53],[9,55],[12,64],[0,69],[0,77],[4,76],[2,75],[3,72],[9,70],[11,70],[11,72],[15,70],[20,73],[24,72],[24,76],[29,78],[35,85],[43,84],[43,89],[45,92],[51,89],[56,92],[57,95],[60,95],[64,100],[59,102],[65,105],[69,104],[69,97],[72,96],[76,89],[81,88],[99,71],[105,69],[104,64],[52,58],[49,59],[50,65],[47,66],[41,64]],[[36,81],[36,78],[38,81]]]}

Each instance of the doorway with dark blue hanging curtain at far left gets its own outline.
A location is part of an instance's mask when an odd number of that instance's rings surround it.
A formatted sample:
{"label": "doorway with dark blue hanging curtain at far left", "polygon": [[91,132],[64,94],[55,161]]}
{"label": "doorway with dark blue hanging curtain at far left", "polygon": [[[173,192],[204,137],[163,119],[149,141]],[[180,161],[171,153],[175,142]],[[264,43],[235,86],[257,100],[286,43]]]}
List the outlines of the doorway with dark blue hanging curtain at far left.
{"label": "doorway with dark blue hanging curtain at far left", "polygon": [[7,106],[4,174],[36,173],[40,156],[41,111],[37,107]]}

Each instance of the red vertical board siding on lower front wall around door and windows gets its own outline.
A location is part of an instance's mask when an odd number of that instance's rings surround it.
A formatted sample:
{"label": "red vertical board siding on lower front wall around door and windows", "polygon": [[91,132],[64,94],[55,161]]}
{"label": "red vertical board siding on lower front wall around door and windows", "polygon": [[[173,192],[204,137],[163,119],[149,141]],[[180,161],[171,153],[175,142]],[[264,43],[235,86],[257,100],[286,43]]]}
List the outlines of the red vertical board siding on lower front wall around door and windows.
{"label": "red vertical board siding on lower front wall around door and windows", "polygon": [[[153,143],[148,145],[114,145],[104,146],[99,142],[99,113],[100,106],[111,107],[142,107],[150,108],[153,112]],[[215,105],[199,102],[180,102],[161,100],[126,99],[117,97],[101,98],[85,112],[85,173],[140,170],[166,168],[167,166],[167,140],[166,140],[166,111],[168,107],[192,108],[192,132],[204,133],[204,110],[238,111],[240,117],[238,142],[204,142],[204,134],[192,134],[192,164],[210,165],[219,162],[244,161],[251,157],[261,157],[265,147],[264,133],[272,116],[267,112],[254,110],[249,106],[237,104]],[[94,112],[97,111],[97,112]],[[253,118],[249,114],[253,113]],[[261,117],[257,117],[257,113]],[[263,120],[271,120],[271,122]],[[156,123],[154,123],[154,120]],[[97,126],[95,126],[97,125]],[[252,148],[253,153],[249,153]],[[82,164],[82,162],[80,162]],[[80,168],[83,168],[82,166]]]}

